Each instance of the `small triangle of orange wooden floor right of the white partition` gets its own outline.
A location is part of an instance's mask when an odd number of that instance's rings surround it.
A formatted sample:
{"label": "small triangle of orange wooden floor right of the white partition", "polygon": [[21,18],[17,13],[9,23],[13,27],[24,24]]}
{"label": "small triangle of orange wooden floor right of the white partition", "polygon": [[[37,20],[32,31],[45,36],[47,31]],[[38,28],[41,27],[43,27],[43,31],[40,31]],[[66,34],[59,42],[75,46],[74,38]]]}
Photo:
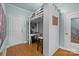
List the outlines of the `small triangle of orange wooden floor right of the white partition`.
{"label": "small triangle of orange wooden floor right of the white partition", "polygon": [[54,54],[53,56],[79,56],[79,54],[75,54],[73,52],[67,51],[67,50],[63,50],[61,48],[59,48]]}

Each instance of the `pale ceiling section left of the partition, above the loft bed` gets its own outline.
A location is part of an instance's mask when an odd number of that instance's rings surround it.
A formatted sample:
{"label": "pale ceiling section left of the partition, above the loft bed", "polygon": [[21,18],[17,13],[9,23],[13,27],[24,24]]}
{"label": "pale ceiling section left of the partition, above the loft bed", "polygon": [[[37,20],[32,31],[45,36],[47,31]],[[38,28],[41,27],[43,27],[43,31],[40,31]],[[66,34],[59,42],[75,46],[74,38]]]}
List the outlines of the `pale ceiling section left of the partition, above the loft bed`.
{"label": "pale ceiling section left of the partition, above the loft bed", "polygon": [[43,5],[43,3],[10,3],[10,4],[29,10],[31,12],[34,12]]}

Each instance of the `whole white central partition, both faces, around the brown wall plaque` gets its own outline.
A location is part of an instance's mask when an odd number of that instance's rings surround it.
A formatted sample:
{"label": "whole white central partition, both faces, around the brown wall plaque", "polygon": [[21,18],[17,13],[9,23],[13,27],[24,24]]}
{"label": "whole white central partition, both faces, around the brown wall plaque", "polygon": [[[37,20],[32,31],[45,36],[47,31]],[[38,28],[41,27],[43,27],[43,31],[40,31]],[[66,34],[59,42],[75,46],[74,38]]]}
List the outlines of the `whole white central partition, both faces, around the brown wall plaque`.
{"label": "whole white central partition, both faces, around the brown wall plaque", "polygon": [[43,51],[45,55],[53,55],[59,48],[59,24],[58,26],[52,25],[52,16],[57,16],[59,18],[59,13],[53,4],[45,4],[44,13]]}

